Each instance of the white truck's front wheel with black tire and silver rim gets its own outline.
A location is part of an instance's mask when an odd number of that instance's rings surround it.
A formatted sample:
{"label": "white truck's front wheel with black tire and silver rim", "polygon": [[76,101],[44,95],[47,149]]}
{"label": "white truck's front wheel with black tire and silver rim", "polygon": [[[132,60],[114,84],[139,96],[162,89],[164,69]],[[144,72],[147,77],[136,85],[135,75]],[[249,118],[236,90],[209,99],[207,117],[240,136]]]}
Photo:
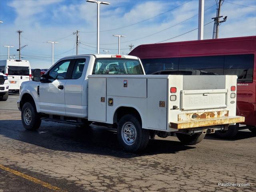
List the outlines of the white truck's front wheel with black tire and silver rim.
{"label": "white truck's front wheel with black tire and silver rim", "polygon": [[36,112],[36,106],[30,102],[22,106],[21,120],[26,130],[37,130],[41,125],[40,114]]}

